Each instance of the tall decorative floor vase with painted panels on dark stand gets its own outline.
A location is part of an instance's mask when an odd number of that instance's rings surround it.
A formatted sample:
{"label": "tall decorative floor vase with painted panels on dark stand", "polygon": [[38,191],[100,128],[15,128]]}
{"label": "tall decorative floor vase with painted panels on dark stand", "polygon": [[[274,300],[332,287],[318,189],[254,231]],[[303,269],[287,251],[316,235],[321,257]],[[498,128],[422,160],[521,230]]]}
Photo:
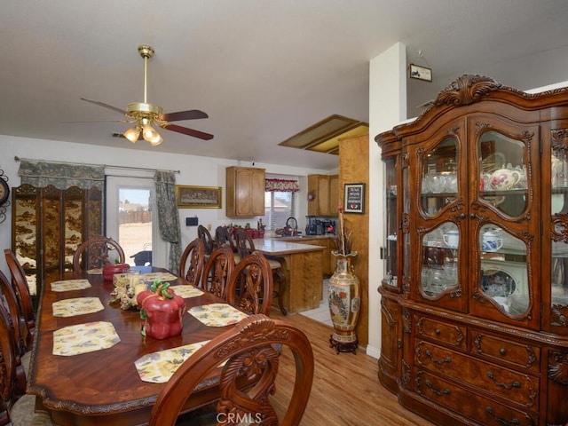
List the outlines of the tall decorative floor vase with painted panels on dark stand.
{"label": "tall decorative floor vase with painted panels on dark stand", "polygon": [[359,343],[355,326],[361,298],[359,278],[353,273],[351,259],[357,256],[357,252],[349,255],[340,255],[337,252],[332,254],[337,257],[337,267],[329,279],[327,293],[329,313],[334,324],[334,333],[329,336],[329,344],[337,353],[355,353]]}

